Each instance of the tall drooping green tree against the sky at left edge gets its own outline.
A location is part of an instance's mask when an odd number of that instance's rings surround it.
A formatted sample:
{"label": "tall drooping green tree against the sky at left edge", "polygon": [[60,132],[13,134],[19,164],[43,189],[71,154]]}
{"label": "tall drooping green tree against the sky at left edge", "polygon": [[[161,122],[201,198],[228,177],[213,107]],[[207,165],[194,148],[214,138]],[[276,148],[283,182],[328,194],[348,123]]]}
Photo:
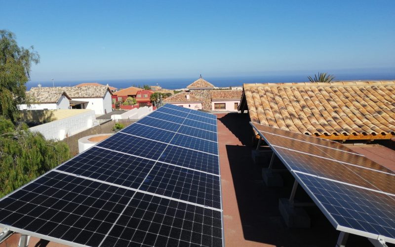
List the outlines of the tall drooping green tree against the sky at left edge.
{"label": "tall drooping green tree against the sky at left edge", "polygon": [[32,64],[40,62],[34,47],[18,46],[15,35],[0,30],[0,114],[12,122],[19,117],[18,104],[26,100],[26,82],[30,80]]}

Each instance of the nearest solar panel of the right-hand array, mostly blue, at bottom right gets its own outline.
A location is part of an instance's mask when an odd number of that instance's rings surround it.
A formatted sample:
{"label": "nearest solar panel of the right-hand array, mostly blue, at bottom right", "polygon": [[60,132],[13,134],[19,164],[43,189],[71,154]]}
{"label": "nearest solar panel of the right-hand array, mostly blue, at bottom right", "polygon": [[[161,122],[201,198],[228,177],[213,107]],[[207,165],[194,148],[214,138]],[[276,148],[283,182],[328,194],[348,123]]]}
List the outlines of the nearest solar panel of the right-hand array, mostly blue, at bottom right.
{"label": "nearest solar panel of the right-hand array, mostly blue, at bottom right", "polygon": [[395,197],[310,175],[296,175],[337,225],[395,238]]}

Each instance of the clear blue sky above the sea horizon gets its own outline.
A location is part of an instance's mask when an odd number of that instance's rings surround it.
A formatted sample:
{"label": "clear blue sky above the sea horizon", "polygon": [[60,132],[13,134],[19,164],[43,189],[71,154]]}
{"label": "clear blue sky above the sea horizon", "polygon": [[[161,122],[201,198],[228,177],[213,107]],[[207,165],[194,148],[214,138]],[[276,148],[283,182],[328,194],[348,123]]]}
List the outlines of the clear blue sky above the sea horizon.
{"label": "clear blue sky above the sea horizon", "polygon": [[32,81],[395,70],[394,0],[0,0]]}

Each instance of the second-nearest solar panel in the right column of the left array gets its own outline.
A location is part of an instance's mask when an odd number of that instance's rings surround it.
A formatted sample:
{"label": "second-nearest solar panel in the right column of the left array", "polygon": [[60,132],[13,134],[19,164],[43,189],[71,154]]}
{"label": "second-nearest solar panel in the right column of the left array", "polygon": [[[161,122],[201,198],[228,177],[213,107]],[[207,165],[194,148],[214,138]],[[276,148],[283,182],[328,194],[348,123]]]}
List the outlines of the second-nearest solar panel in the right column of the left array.
{"label": "second-nearest solar panel in the right column of the left array", "polygon": [[140,190],[199,205],[221,208],[220,177],[157,163]]}

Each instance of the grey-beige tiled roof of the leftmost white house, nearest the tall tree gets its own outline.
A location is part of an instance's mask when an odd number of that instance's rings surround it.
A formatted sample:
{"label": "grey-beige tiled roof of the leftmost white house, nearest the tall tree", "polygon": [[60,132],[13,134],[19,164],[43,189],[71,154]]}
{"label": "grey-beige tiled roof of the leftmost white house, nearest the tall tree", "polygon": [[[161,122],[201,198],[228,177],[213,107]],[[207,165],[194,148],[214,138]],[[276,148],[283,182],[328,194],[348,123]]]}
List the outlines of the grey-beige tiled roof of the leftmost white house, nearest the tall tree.
{"label": "grey-beige tiled roof of the leftmost white house, nearest the tall tree", "polygon": [[58,103],[60,97],[65,95],[66,98],[71,100],[69,95],[64,90],[61,90],[57,87],[37,87],[40,90],[30,90],[26,92],[27,97],[31,101],[31,103],[36,104],[50,104],[50,103]]}

